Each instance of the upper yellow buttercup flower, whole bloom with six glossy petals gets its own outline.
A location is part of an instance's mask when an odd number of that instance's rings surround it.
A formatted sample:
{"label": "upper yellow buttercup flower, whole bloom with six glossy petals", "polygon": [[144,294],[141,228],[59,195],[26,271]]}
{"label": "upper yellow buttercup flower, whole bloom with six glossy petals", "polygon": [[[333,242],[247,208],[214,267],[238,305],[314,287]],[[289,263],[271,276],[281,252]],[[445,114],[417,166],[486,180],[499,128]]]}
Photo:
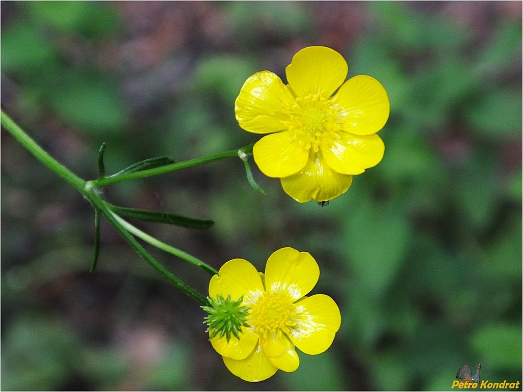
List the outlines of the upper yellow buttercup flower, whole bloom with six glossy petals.
{"label": "upper yellow buttercup flower, whole bloom with six glossy petals", "polygon": [[334,199],[349,189],[353,175],[383,157],[376,132],[389,118],[389,98],[370,76],[345,82],[347,72],[335,50],[308,47],[287,66],[287,85],[275,73],[257,72],[236,98],[238,124],[248,132],[270,133],[254,145],[259,169],[280,178],[283,190],[299,202]]}

